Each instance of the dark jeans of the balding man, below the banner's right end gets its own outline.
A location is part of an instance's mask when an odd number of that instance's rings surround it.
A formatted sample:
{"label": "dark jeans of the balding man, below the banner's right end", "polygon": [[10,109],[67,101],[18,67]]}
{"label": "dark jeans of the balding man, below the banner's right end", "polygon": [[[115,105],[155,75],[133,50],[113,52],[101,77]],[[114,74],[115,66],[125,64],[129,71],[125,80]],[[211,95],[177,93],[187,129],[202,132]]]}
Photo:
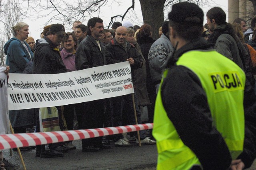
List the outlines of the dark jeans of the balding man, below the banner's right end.
{"label": "dark jeans of the balding man, below the banner's right end", "polygon": [[[134,94],[134,102],[135,102],[135,109],[137,113],[137,121],[138,124],[141,124],[142,121],[140,119],[140,109],[138,107],[137,97]],[[112,127],[116,126],[124,126],[126,122],[128,125],[135,125],[135,116],[134,116],[134,108],[132,103],[132,94],[126,94],[124,96],[118,96],[110,99],[110,109],[111,109],[111,120],[112,120]],[[140,138],[145,139],[145,130],[140,131]],[[137,133],[131,133],[137,136]],[[118,141],[122,139],[122,134],[114,135],[114,141]]]}

